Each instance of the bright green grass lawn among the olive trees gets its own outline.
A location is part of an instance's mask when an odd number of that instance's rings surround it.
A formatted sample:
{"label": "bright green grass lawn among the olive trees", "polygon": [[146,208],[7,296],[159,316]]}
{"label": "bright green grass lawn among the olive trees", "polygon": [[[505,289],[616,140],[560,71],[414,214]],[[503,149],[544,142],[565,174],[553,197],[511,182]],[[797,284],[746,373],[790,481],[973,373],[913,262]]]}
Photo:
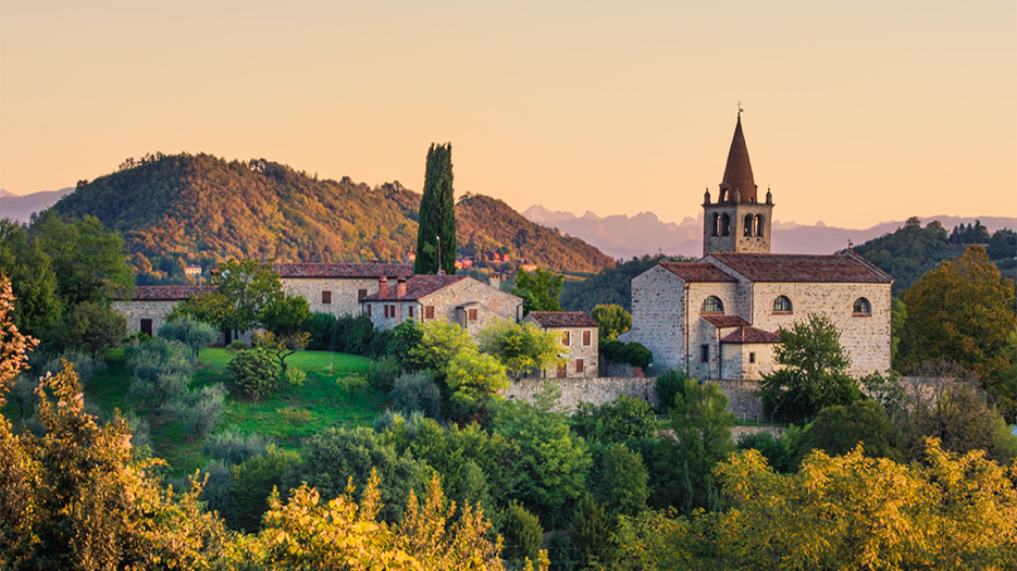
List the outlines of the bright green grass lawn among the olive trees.
{"label": "bright green grass lawn among the olive trees", "polygon": [[[336,384],[336,378],[340,376],[367,376],[372,367],[370,359],[327,351],[301,351],[290,356],[286,362],[292,368],[303,370],[307,382],[296,394],[288,385],[281,386],[273,397],[256,404],[237,398],[230,385],[226,364],[231,357],[225,349],[202,350],[199,355],[199,370],[191,384],[203,386],[223,383],[230,390],[223,422],[218,432],[228,427],[234,432],[259,433],[274,438],[283,448],[299,450],[302,438],[323,429],[370,425],[390,404],[387,394],[373,387],[358,389],[350,395]],[[129,408],[125,401],[128,385],[124,350],[116,348],[107,355],[107,371],[85,387],[85,394],[89,402],[97,405],[102,412],[112,414],[114,409],[125,411]],[[7,410],[10,407],[4,407],[9,418],[15,413],[14,410]],[[286,410],[289,408],[293,411]],[[147,411],[139,411],[139,414],[147,415]],[[171,475],[193,473],[204,466],[208,458],[202,454],[202,443],[186,442],[178,423],[163,422],[158,418],[150,418],[149,422],[152,452],[170,463]]]}

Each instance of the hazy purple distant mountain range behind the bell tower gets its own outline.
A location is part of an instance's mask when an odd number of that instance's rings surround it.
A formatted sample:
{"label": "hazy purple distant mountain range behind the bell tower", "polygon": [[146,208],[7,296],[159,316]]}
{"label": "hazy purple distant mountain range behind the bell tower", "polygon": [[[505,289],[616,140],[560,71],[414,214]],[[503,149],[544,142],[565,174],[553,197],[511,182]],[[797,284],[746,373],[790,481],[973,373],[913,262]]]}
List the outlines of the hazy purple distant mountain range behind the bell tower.
{"label": "hazy purple distant mountain range behind the bell tower", "polygon": [[[571,212],[551,211],[534,204],[522,212],[531,222],[556,227],[562,234],[575,236],[596,246],[612,258],[629,259],[633,256],[654,255],[662,251],[670,256],[700,257],[703,255],[703,215],[685,216],[680,223],[663,222],[653,212],[640,212],[634,216],[616,214],[600,218],[586,211],[582,216]],[[922,225],[933,220],[951,229],[959,224],[973,224],[980,220],[990,232],[1008,227],[1017,228],[1017,218],[1004,216],[928,216]],[[881,222],[870,228],[839,228],[835,226],[807,225],[795,222],[774,222],[771,251],[773,253],[832,253],[843,250],[848,241],[863,244],[891,233],[904,225],[904,220]]]}

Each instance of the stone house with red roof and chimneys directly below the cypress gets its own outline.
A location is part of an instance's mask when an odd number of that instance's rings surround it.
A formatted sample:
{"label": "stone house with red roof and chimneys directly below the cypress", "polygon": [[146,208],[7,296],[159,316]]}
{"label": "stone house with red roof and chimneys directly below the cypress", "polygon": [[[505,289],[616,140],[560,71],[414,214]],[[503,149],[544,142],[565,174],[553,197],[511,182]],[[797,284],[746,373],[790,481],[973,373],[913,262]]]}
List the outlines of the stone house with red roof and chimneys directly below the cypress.
{"label": "stone house with red roof and chimneys directly below the cypress", "polygon": [[457,323],[472,336],[489,323],[522,318],[522,298],[503,291],[497,275],[484,284],[466,275],[412,275],[395,285],[377,281],[376,293],[360,300],[361,311],[380,330],[404,320]]}

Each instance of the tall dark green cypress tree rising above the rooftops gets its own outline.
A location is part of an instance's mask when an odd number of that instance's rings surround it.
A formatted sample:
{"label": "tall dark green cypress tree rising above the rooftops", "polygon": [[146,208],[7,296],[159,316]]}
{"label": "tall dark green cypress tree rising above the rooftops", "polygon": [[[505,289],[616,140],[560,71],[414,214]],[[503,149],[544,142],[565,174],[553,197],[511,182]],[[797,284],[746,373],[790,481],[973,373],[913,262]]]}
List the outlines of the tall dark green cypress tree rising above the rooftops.
{"label": "tall dark green cypress tree rising above the rooftops", "polygon": [[[441,240],[438,239],[441,238]],[[442,270],[456,273],[456,199],[452,195],[452,145],[431,144],[420,199],[420,229],[417,234],[416,274],[438,272],[438,244]]]}

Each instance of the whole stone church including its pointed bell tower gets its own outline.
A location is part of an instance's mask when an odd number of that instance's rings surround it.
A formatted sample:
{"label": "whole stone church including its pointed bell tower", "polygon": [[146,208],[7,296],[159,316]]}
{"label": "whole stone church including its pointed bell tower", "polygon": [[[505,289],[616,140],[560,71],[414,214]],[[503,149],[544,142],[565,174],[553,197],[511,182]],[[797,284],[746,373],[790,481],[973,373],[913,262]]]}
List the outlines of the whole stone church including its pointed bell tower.
{"label": "whole stone church including its pointed bell tower", "polygon": [[810,314],[840,331],[849,373],[890,369],[893,278],[849,249],[770,253],[773,196],[757,200],[739,113],[717,201],[703,201],[703,258],[661,262],[632,278],[632,328],[619,338],[699,380],[752,381],[773,371],[778,331]]}

